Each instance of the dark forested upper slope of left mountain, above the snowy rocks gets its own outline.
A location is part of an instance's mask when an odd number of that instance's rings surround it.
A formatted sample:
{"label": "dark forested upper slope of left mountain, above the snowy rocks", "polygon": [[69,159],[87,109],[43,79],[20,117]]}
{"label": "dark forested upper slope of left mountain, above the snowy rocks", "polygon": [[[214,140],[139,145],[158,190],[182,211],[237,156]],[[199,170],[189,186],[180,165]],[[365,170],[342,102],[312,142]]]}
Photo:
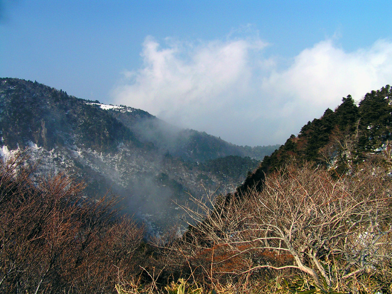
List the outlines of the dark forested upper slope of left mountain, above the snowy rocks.
{"label": "dark forested upper slope of left mountain, above the snowy rocks", "polygon": [[116,149],[120,142],[140,145],[108,113],[37,82],[1,79],[0,103],[3,144],[10,148],[30,141],[48,150],[75,144],[98,152]]}

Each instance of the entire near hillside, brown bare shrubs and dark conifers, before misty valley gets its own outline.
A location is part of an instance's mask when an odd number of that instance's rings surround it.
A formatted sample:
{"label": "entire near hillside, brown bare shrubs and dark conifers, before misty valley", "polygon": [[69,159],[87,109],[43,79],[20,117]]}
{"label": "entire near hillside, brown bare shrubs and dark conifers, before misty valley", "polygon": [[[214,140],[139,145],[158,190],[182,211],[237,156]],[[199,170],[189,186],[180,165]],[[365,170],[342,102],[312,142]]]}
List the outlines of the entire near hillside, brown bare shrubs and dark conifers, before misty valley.
{"label": "entire near hillside, brown bare shrubs and dark conifers, before misty valley", "polygon": [[386,86],[358,106],[343,98],[235,193],[191,196],[181,237],[147,242],[113,200],[89,202],[62,175],[33,185],[24,158],[3,160],[0,290],[392,293],[391,97]]}

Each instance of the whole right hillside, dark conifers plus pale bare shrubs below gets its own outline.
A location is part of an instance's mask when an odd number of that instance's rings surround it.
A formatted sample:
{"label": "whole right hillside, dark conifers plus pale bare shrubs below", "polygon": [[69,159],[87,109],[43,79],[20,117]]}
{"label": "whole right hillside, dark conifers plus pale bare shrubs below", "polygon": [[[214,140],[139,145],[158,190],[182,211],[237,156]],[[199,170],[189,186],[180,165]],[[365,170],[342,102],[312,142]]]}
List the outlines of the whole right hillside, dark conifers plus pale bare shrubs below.
{"label": "whole right hillside, dark conifers plus pale bare shrubs below", "polygon": [[249,293],[391,293],[391,128],[389,85],[304,125],[236,193],[190,211],[189,277],[249,281]]}

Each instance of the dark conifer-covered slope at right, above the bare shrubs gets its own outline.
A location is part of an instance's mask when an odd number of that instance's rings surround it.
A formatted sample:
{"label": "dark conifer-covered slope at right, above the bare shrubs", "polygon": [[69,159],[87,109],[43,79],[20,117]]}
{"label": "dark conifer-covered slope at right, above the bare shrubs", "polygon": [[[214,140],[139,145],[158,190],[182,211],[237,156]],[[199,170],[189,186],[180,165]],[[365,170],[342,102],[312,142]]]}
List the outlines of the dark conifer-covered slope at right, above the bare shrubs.
{"label": "dark conifer-covered slope at right, above the bare shrubs", "polygon": [[369,154],[381,154],[391,161],[392,87],[371,91],[357,104],[348,95],[333,111],[304,125],[297,136],[266,156],[260,166],[237,189],[260,190],[266,174],[279,171],[288,161],[301,166],[311,162],[326,167],[334,176],[355,172]]}

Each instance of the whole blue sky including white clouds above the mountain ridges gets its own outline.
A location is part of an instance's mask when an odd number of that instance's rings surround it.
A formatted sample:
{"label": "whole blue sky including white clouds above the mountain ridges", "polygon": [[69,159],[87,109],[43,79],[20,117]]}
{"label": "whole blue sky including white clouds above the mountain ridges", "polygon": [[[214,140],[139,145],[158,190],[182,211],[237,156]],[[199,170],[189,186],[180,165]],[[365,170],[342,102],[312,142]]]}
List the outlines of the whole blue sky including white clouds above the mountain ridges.
{"label": "whole blue sky including white clouds above the mountain ridges", "polygon": [[392,83],[392,1],[0,0],[0,76],[239,145]]}

